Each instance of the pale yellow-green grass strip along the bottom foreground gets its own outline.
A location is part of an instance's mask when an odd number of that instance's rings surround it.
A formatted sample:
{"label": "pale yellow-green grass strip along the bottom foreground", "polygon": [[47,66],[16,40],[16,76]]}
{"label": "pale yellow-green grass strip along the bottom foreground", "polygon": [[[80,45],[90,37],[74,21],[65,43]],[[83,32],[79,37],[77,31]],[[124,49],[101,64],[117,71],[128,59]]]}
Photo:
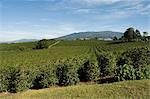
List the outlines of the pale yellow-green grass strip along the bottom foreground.
{"label": "pale yellow-green grass strip along the bottom foreground", "polygon": [[28,90],[17,94],[2,93],[0,99],[149,99],[150,80],[110,84],[80,84]]}

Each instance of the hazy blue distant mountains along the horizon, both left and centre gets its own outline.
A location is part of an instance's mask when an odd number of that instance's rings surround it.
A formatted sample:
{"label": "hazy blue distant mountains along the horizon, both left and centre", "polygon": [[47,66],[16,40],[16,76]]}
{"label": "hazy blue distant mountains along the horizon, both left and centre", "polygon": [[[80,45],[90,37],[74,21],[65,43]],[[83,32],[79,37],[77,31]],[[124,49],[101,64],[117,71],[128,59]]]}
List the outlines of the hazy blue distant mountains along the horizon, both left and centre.
{"label": "hazy blue distant mountains along the horizon, both left and centre", "polygon": [[[89,32],[78,32],[78,33],[71,33],[69,35],[65,35],[62,37],[56,38],[57,40],[76,40],[76,39],[112,39],[114,36],[120,38],[123,36],[121,32],[113,32],[113,31],[89,31]],[[1,41],[0,43],[20,43],[20,42],[33,42],[38,41],[38,39],[20,39],[15,41]]]}

